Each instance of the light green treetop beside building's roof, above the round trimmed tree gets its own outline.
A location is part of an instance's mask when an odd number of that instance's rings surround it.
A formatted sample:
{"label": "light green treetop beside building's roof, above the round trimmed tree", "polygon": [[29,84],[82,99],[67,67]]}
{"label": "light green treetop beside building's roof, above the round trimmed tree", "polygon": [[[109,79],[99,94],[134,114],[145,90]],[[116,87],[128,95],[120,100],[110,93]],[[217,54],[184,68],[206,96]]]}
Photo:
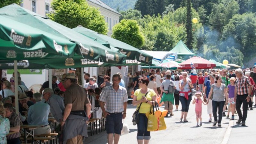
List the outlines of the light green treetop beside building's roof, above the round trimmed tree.
{"label": "light green treetop beside building's roof, above the round trimmed tree", "polygon": [[122,19],[133,19],[133,20],[139,20],[142,15],[141,12],[138,10],[133,10],[133,9],[128,9],[127,11],[121,11],[120,12],[122,14],[122,16],[120,17],[119,20]]}

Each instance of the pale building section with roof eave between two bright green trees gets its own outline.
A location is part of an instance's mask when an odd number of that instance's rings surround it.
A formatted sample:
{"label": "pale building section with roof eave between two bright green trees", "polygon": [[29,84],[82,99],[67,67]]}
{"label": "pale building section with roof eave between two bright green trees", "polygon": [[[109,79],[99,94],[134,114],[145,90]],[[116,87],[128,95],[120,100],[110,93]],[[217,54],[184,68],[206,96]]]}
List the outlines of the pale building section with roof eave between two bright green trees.
{"label": "pale building section with roof eave between two bright green trees", "polygon": [[87,0],[87,3],[90,6],[99,8],[101,15],[104,16],[106,23],[108,23],[108,36],[111,36],[113,26],[119,23],[121,14],[100,0]]}

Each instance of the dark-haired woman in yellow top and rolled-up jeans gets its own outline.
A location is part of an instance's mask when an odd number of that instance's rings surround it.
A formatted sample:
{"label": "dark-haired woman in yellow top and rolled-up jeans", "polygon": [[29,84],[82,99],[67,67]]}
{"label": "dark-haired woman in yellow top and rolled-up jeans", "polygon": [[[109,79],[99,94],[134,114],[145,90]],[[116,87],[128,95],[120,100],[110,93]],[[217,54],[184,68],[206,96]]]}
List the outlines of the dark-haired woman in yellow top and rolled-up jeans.
{"label": "dark-haired woman in yellow top and rolled-up jeans", "polygon": [[[143,144],[143,142],[144,142],[144,144],[148,144],[149,140],[150,140],[150,132],[147,130],[148,129],[148,118],[146,117],[146,113],[150,111],[151,105],[155,104],[156,93],[154,90],[151,90],[148,88],[148,83],[149,83],[149,79],[147,76],[139,78],[140,89],[138,89],[134,92],[134,97],[133,97],[133,101],[132,101],[133,105],[137,105],[137,109],[140,106],[139,123],[137,124],[138,144]],[[148,94],[146,95],[147,92],[148,92]]]}

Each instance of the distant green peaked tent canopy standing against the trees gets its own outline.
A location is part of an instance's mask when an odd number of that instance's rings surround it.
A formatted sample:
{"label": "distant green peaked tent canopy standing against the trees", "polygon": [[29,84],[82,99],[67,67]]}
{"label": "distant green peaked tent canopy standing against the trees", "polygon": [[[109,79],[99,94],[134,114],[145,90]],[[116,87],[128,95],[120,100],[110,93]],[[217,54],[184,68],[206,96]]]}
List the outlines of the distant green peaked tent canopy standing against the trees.
{"label": "distant green peaked tent canopy standing against the trees", "polygon": [[176,52],[178,56],[196,55],[188,49],[188,47],[183,43],[182,40],[180,40],[179,43],[175,47],[173,47],[172,50],[170,50],[170,52]]}

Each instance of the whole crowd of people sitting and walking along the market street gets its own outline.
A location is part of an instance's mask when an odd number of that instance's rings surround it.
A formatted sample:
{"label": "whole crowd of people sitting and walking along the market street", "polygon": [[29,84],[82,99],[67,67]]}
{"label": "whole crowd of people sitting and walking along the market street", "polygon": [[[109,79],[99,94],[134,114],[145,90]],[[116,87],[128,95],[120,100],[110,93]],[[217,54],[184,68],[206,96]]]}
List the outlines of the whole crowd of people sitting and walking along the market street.
{"label": "whole crowd of people sitting and walking along the market street", "polygon": [[[128,101],[122,75],[113,75],[112,83],[109,76],[104,76],[104,82],[99,85],[96,78],[85,73],[84,80],[87,83],[81,87],[74,73],[63,74],[60,82],[56,76],[52,76],[52,88],[49,88],[49,81],[46,81],[39,92],[33,93],[27,89],[18,73],[19,114],[15,112],[14,77],[10,81],[2,79],[0,140],[6,141],[3,143],[20,143],[20,126],[23,124],[40,125],[35,130],[35,135],[51,133],[54,129],[50,126],[48,118],[52,116],[63,128],[63,143],[83,143],[83,137],[88,137],[88,120],[92,116],[93,108],[98,105],[106,118],[108,143],[118,143]],[[145,75],[136,72],[132,84],[132,104],[137,106],[140,113],[137,124],[138,144],[149,143],[151,136],[147,131],[146,113],[156,105],[158,97],[161,97],[159,103],[164,104],[164,109],[168,111],[165,117],[172,117],[173,111],[178,111],[181,103],[180,122],[188,122],[187,115],[192,101],[192,104],[196,105],[196,126],[202,126],[202,104],[207,105],[209,122],[213,122],[213,126],[218,124],[217,126],[221,127],[222,117],[229,118],[230,112],[231,120],[234,120],[234,113],[237,112],[239,118],[236,123],[242,122],[242,126],[245,126],[247,110],[253,109],[255,82],[256,66],[253,67],[253,71],[238,68],[198,73],[195,69],[191,72],[161,72],[160,69],[156,69],[146,72]],[[170,86],[175,90],[170,92]],[[197,90],[193,100],[192,89]],[[15,133],[5,136],[9,132]]]}

